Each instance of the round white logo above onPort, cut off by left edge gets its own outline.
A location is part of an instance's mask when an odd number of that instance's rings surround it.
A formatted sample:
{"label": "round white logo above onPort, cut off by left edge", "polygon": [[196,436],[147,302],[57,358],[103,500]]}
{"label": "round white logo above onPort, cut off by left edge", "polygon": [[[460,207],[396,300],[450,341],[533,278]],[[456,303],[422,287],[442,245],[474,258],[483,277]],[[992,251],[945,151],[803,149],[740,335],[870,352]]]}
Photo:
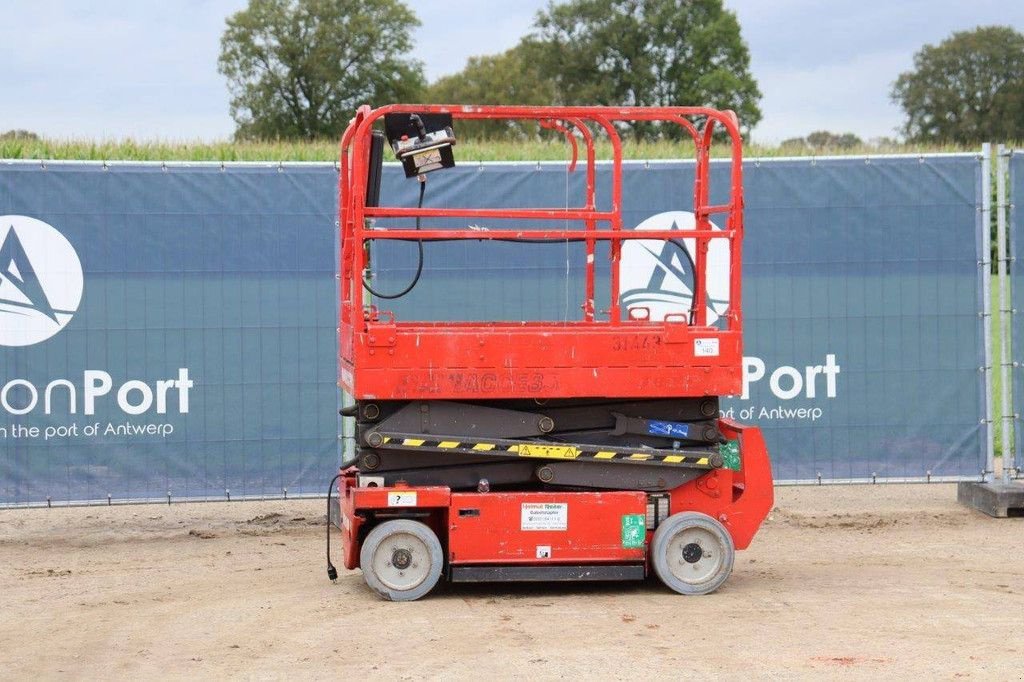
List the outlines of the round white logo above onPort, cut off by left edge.
{"label": "round white logo above onPort, cut off by left edge", "polygon": [[0,346],[31,346],[71,322],[82,301],[82,263],[42,220],[0,216]]}

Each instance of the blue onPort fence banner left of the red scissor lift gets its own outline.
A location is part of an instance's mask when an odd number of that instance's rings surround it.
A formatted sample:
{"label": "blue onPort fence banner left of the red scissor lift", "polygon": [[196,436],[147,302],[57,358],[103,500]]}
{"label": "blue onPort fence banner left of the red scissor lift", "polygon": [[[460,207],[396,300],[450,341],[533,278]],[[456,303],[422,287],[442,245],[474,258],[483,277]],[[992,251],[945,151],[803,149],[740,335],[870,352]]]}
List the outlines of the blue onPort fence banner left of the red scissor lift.
{"label": "blue onPort fence banner left of the red scissor lift", "polygon": [[0,503],[325,492],[336,183],[0,164]]}

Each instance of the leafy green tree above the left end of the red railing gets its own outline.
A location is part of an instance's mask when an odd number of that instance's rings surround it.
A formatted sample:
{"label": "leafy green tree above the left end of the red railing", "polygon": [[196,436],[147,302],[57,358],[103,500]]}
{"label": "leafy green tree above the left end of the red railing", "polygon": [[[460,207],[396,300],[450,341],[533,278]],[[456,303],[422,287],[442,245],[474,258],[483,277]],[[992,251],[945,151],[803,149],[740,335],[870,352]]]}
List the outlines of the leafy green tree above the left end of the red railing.
{"label": "leafy green tree above the left end of the red railing", "polygon": [[419,19],[400,0],[249,0],[227,19],[218,69],[238,137],[338,136],[362,103],[409,101]]}

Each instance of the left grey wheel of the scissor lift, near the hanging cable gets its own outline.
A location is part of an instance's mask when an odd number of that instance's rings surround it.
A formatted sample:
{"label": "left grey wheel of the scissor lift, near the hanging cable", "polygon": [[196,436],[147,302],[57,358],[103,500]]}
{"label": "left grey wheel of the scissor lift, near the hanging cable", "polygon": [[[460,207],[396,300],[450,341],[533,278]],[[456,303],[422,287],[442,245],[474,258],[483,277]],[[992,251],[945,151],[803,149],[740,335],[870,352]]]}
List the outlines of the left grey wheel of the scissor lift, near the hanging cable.
{"label": "left grey wheel of the scissor lift, near the hanging cable", "polygon": [[412,601],[430,592],[444,555],[437,536],[419,521],[386,521],[370,531],[359,552],[367,585],[390,601]]}

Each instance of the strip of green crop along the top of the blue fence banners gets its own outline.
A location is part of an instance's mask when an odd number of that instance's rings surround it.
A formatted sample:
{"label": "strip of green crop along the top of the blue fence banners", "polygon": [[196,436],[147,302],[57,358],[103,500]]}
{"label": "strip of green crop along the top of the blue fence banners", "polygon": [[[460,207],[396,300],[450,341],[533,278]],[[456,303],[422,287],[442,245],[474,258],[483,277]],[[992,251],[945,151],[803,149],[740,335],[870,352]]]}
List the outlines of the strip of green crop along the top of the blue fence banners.
{"label": "strip of green crop along the top of the blue fence banners", "polygon": [[[812,153],[806,148],[750,144],[743,155],[750,158],[788,156],[878,154],[922,154],[935,152],[977,152],[977,147],[957,145],[891,146],[862,145],[849,150]],[[581,150],[581,155],[584,153]],[[597,145],[597,157],[607,159],[611,147],[606,142]],[[716,145],[715,157],[728,156],[725,145]],[[458,158],[474,161],[559,161],[569,156],[561,140],[464,140],[459,142]],[[693,146],[682,142],[626,142],[623,156],[631,160],[691,159]],[[125,139],[59,139],[0,137],[0,159],[80,160],[80,161],[324,161],[338,159],[337,140],[312,141],[203,141],[203,140],[135,140]]]}

